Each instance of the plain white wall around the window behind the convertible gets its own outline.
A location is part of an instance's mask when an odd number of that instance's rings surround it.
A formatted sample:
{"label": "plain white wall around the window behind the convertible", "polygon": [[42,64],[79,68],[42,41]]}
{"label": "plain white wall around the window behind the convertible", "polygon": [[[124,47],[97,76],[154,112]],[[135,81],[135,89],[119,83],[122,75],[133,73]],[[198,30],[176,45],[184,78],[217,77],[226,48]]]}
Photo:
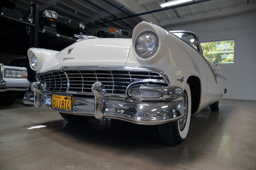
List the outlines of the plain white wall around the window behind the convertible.
{"label": "plain white wall around the window behind the convertible", "polygon": [[218,64],[227,77],[228,93],[223,98],[256,100],[256,13],[177,25],[172,30],[193,31],[201,42],[234,39],[235,62]]}

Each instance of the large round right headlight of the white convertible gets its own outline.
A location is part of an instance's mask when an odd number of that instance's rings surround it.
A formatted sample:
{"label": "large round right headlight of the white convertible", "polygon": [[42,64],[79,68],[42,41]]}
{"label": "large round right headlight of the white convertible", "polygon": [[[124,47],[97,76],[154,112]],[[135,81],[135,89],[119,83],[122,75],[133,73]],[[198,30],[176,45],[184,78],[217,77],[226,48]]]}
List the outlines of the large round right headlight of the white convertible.
{"label": "large round right headlight of the white convertible", "polygon": [[154,32],[145,31],[135,41],[135,51],[141,58],[152,57],[159,46],[158,37]]}

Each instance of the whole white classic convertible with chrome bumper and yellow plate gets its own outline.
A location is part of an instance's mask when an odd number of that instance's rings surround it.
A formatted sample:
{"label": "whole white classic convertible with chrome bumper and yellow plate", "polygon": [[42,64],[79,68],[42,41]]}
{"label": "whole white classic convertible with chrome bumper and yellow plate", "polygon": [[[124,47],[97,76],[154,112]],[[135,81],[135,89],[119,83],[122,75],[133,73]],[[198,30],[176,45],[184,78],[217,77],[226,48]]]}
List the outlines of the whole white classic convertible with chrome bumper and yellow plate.
{"label": "whole white classic convertible with chrome bumper and yellow plate", "polygon": [[80,37],[62,51],[28,50],[37,82],[24,103],[70,122],[93,116],[158,125],[171,145],[186,138],[191,114],[220,108],[226,78],[203,56],[194,33],[142,22],[132,39]]}

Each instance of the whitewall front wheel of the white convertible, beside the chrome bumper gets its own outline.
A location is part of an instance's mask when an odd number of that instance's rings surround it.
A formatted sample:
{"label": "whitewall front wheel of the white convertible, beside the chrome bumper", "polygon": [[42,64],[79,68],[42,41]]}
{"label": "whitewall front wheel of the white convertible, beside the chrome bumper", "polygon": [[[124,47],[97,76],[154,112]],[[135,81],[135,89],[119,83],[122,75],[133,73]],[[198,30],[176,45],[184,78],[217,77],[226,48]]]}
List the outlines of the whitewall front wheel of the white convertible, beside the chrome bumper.
{"label": "whitewall front wheel of the white convertible, beside the chrome bumper", "polygon": [[182,96],[184,116],[178,121],[158,125],[160,137],[165,144],[178,145],[186,139],[191,116],[191,93],[186,83]]}

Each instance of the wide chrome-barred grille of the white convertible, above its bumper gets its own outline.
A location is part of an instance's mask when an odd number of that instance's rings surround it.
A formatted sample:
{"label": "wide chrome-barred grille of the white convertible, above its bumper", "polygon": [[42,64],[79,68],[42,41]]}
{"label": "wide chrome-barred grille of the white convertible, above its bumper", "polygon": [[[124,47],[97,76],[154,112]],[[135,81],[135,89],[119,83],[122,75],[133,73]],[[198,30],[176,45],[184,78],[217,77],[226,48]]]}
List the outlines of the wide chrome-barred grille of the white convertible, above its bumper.
{"label": "wide chrome-barred grille of the white convertible, above its bumper", "polygon": [[[125,96],[128,84],[137,79],[158,79],[164,78],[151,71],[119,71],[119,70],[86,70],[86,71],[55,71],[45,74],[38,74],[38,81],[45,84],[45,91],[66,92],[69,83],[68,93],[76,94],[79,92],[93,94],[91,86],[95,82],[101,82],[108,94]],[[67,81],[68,80],[68,81]]]}

